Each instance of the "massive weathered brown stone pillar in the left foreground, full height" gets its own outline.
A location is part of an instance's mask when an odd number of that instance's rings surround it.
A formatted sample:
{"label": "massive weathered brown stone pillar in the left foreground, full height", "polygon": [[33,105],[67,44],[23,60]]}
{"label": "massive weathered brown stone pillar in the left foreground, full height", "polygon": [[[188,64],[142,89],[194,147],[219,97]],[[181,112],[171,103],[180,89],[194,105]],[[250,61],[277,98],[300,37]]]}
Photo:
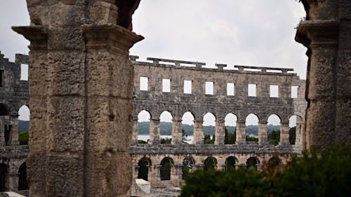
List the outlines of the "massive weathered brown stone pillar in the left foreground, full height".
{"label": "massive weathered brown stone pillar in the left foreground, full height", "polygon": [[27,0],[30,196],[128,196],[138,3]]}

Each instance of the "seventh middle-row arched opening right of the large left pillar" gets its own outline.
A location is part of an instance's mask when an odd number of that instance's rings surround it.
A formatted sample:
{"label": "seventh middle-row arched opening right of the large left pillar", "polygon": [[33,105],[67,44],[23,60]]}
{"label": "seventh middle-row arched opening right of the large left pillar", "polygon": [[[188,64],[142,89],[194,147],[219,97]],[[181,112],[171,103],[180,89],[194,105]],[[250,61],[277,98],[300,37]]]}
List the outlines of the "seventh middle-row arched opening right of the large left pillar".
{"label": "seventh middle-row arched opening right of the large left pillar", "polygon": [[279,116],[272,114],[268,117],[268,130],[267,139],[268,144],[277,146],[280,140],[280,118]]}

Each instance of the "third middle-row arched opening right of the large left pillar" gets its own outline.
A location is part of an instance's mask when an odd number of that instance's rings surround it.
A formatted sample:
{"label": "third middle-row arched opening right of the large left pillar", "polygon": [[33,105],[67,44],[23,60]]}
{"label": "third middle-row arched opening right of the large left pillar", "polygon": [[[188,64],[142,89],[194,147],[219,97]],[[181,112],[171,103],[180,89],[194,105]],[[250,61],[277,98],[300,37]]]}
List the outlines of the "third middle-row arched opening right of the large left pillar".
{"label": "third middle-row arched opening right of the large left pillar", "polygon": [[192,144],[194,140],[194,120],[192,112],[187,111],[182,116],[183,144]]}

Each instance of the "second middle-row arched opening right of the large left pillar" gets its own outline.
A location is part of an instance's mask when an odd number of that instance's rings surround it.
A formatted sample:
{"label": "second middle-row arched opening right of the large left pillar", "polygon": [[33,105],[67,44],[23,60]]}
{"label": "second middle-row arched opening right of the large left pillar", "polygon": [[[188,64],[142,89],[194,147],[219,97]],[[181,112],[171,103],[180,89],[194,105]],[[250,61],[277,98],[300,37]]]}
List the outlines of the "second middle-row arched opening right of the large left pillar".
{"label": "second middle-row arched opening right of the large left pillar", "polygon": [[159,116],[160,121],[160,141],[161,144],[171,144],[172,140],[172,120],[173,116],[169,111],[164,111]]}

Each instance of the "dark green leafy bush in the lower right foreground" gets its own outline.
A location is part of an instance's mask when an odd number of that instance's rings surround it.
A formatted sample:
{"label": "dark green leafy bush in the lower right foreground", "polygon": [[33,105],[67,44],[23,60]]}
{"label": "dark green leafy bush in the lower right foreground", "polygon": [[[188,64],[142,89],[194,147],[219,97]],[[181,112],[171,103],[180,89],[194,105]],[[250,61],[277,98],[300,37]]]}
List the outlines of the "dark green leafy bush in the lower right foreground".
{"label": "dark green leafy bush in the lower right foreground", "polygon": [[[277,159],[272,159],[277,164]],[[281,168],[195,171],[180,197],[342,197],[351,194],[351,146],[312,149]]]}

